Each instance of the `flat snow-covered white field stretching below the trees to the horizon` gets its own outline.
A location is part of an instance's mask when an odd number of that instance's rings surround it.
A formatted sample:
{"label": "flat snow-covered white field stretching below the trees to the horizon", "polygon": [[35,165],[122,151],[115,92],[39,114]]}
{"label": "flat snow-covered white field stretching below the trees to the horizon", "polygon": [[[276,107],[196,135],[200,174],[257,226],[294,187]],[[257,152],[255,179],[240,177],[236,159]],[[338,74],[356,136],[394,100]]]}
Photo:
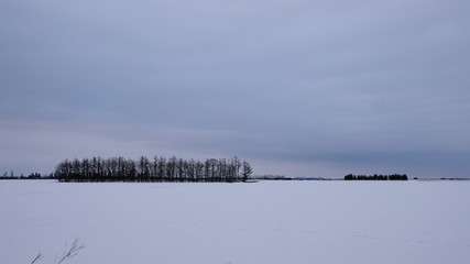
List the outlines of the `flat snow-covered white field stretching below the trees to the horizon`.
{"label": "flat snow-covered white field stretching below the trees to the horizon", "polygon": [[0,263],[470,263],[470,182],[0,182]]}

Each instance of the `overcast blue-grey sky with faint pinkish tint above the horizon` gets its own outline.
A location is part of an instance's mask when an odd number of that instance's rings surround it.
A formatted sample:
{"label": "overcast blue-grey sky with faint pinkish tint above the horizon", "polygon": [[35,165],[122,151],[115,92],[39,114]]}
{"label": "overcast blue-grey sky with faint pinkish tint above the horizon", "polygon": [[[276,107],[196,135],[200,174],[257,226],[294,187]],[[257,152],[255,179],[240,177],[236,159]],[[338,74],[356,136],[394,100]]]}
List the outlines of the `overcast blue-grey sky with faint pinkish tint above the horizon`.
{"label": "overcast blue-grey sky with faint pinkish tint above the horizon", "polygon": [[468,0],[1,0],[0,173],[470,177]]}

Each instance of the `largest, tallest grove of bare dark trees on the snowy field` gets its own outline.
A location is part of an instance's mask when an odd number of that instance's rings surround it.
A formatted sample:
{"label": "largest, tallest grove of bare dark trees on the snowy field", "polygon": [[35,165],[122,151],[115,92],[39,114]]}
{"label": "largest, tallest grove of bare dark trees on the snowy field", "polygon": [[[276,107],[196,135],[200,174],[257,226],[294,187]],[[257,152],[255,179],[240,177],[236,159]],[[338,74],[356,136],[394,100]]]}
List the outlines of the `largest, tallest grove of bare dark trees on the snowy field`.
{"label": "largest, tallest grove of bare dark trees on the snowy field", "polygon": [[205,162],[175,156],[138,161],[124,157],[65,160],[54,176],[61,182],[245,182],[251,165],[238,157],[207,158]]}

